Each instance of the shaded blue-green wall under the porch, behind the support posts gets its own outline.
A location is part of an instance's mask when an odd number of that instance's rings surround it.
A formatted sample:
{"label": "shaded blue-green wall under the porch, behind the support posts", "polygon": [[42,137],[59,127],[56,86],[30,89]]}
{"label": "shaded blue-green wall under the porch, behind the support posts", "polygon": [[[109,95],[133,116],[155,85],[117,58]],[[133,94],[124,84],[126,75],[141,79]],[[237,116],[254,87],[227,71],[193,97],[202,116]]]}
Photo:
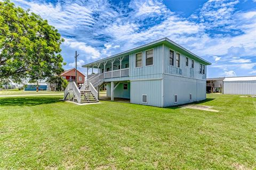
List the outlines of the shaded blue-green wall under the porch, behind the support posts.
{"label": "shaded blue-green wall under the porch, behind the support posts", "polygon": [[[124,90],[124,83],[120,83],[114,90],[114,97],[130,99],[131,84],[128,84],[128,90]],[[106,84],[107,96],[111,97],[111,83]]]}

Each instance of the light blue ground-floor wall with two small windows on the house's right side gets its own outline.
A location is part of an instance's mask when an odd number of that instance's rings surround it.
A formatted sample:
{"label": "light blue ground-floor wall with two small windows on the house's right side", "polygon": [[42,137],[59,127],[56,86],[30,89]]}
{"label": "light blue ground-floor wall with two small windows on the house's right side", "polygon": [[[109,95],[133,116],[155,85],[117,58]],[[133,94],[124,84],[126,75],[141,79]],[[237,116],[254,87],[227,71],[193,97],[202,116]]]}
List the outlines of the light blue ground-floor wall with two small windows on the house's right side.
{"label": "light blue ground-floor wall with two small windows on the house's right side", "polygon": [[[192,94],[192,100],[189,100]],[[178,95],[178,103],[174,104],[174,95]],[[206,99],[206,81],[164,75],[164,107],[181,105]]]}

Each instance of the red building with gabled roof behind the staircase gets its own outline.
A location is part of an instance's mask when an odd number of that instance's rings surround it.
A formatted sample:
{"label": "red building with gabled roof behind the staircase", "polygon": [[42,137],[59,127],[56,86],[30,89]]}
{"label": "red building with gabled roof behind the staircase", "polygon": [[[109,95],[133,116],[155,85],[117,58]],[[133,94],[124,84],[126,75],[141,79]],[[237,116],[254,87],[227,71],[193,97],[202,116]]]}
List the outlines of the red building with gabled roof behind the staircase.
{"label": "red building with gabled roof behind the staircase", "polygon": [[[60,74],[63,79],[66,79],[67,81],[76,81],[76,69],[70,69],[62,74]],[[77,84],[78,87],[81,87],[84,83],[85,75],[77,70]]]}

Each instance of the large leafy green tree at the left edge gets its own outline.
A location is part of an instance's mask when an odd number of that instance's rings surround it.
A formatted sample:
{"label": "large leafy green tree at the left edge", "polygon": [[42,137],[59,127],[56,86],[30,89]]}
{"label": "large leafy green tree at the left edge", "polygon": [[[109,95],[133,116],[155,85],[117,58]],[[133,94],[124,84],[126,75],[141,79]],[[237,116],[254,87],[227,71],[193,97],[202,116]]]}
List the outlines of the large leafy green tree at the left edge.
{"label": "large leafy green tree at the left edge", "polygon": [[[0,1],[0,78],[21,82],[60,75],[60,33],[35,13]],[[38,86],[37,86],[38,87]]]}

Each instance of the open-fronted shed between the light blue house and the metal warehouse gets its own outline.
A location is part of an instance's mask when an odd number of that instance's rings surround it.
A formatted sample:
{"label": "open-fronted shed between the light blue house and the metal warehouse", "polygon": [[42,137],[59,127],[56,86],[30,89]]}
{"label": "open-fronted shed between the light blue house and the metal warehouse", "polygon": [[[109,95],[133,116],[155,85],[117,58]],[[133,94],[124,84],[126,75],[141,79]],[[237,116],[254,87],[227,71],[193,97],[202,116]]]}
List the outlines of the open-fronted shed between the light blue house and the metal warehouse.
{"label": "open-fronted shed between the light blue house and the metal warehouse", "polygon": [[207,78],[206,91],[207,92],[222,92],[223,80],[225,78]]}

